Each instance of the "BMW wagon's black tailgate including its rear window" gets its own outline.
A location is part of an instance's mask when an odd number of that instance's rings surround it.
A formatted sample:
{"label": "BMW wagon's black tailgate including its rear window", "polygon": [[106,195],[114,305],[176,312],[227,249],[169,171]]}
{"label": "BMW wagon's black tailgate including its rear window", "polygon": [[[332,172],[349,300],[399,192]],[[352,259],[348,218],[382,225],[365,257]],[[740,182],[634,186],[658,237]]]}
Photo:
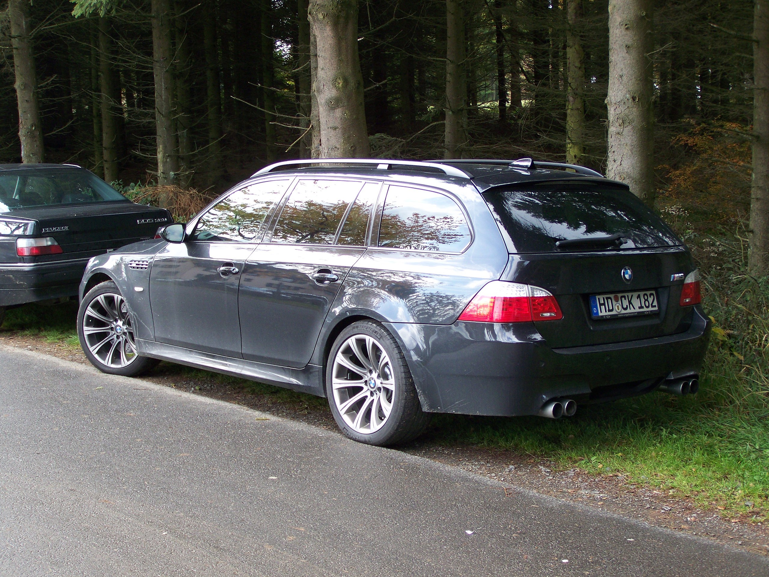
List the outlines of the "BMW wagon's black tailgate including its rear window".
{"label": "BMW wagon's black tailgate including its rear window", "polygon": [[[688,328],[691,308],[681,307],[679,298],[683,275],[693,269],[691,255],[624,185],[594,179],[508,185],[484,198],[511,253],[502,279],[545,288],[558,300],[563,319],[535,323],[551,347]],[[591,297],[601,295],[610,308],[630,295],[634,305],[611,315],[601,306],[598,314],[606,316],[597,317]]]}

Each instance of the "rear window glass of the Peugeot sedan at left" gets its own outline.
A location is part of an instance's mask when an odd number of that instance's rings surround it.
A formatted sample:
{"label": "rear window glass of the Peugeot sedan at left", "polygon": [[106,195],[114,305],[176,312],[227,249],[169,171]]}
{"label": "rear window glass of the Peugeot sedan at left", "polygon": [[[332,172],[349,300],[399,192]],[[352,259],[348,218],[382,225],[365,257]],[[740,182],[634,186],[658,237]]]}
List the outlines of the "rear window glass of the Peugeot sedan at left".
{"label": "rear window glass of the Peugeot sedan at left", "polygon": [[98,176],[81,168],[45,168],[0,174],[0,212],[83,202],[125,201]]}

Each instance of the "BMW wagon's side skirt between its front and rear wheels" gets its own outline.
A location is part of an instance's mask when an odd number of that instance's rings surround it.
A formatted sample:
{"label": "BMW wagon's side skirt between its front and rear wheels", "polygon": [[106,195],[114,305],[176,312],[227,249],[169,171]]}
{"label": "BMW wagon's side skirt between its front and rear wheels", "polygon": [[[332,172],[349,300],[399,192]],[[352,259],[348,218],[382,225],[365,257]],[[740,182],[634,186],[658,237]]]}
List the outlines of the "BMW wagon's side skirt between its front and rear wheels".
{"label": "BMW wagon's side skirt between its front and rear wheels", "polygon": [[153,359],[161,359],[188,365],[195,369],[221,372],[225,375],[240,377],[250,381],[265,382],[269,385],[285,387],[298,392],[325,397],[323,386],[323,367],[305,365],[302,369],[290,369],[278,365],[267,365],[261,362],[232,359],[210,352],[193,351],[162,342],[136,339],[138,354]]}

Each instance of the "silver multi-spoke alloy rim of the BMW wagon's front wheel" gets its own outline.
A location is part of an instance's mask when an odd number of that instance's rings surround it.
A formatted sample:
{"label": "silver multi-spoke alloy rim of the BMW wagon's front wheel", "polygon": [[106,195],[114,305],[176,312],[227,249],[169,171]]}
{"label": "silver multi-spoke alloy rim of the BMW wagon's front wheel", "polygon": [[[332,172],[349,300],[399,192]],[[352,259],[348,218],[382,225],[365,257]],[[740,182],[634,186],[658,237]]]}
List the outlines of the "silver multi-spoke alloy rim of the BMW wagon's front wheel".
{"label": "silver multi-spoke alloy rim of the BMW wagon's front wheel", "polygon": [[131,315],[122,295],[105,292],[88,303],[83,335],[91,354],[111,369],[122,369],[138,358]]}

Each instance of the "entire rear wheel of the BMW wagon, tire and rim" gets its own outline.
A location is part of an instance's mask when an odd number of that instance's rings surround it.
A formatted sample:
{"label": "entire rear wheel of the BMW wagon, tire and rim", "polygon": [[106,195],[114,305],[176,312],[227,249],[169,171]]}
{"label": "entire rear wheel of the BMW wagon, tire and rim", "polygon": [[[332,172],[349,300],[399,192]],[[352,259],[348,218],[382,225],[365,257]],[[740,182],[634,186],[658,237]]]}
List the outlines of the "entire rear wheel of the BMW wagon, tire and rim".
{"label": "entire rear wheel of the BMW wagon, tire and rim", "polygon": [[338,336],[326,391],[336,422],[356,441],[406,442],[428,423],[398,342],[376,322],[355,322]]}

